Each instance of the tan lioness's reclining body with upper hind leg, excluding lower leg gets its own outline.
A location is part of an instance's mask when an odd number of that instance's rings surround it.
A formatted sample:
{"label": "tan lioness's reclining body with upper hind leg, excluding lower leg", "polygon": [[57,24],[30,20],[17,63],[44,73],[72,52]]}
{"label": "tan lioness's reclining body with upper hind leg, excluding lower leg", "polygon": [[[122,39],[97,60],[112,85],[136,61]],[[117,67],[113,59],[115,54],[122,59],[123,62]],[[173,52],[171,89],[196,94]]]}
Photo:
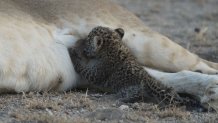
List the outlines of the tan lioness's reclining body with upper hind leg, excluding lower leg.
{"label": "tan lioness's reclining body with upper hind leg, excluding lower leg", "polygon": [[98,25],[124,28],[123,41],[142,65],[172,72],[217,72],[218,65],[209,67],[106,0],[1,0],[0,16],[0,92],[75,86],[79,79],[67,47]]}

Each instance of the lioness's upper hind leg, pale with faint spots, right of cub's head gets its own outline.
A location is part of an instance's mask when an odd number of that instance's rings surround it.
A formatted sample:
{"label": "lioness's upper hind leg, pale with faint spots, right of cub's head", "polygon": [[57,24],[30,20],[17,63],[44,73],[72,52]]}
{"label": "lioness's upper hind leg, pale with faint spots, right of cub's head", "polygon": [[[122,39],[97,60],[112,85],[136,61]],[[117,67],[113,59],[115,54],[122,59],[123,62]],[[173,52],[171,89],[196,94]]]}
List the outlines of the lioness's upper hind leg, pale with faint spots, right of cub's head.
{"label": "lioness's upper hind leg, pale with faint spots, right of cub's head", "polygon": [[169,72],[190,70],[205,74],[218,73],[218,70],[207,65],[197,55],[158,33],[143,31],[131,33],[130,30],[127,31],[124,42],[138,61],[145,66]]}

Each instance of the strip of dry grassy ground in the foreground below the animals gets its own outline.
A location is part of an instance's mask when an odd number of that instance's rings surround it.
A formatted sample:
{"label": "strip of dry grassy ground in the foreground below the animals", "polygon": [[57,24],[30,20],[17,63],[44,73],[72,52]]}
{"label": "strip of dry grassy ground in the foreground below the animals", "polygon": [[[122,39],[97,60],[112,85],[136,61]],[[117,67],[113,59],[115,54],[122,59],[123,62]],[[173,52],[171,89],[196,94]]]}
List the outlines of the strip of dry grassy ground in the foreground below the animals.
{"label": "strip of dry grassy ground in the foreground below the animals", "polygon": [[[111,95],[91,98],[85,92],[68,93],[30,93],[2,95],[2,111],[9,112],[3,121],[14,119],[16,122],[42,123],[87,123],[87,122],[178,122],[190,121],[196,115],[182,108],[160,110],[149,103],[125,104],[128,110],[120,110],[120,102],[110,99]],[[1,113],[1,112],[0,112]],[[206,113],[207,114],[207,113]],[[203,121],[217,121],[217,115],[197,114]],[[211,118],[209,118],[210,116]],[[0,116],[0,121],[1,121]],[[199,118],[200,119],[200,118]]]}

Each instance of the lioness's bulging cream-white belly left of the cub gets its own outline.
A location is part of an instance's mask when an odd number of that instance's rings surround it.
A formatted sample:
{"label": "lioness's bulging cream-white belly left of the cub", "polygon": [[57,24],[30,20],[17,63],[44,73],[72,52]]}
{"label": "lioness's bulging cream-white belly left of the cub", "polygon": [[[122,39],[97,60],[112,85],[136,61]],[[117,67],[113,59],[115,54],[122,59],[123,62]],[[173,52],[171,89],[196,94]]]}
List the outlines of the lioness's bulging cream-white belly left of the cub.
{"label": "lioness's bulging cream-white belly left of the cub", "polygon": [[0,23],[0,92],[62,91],[76,84],[67,48],[54,38],[55,27],[7,16]]}

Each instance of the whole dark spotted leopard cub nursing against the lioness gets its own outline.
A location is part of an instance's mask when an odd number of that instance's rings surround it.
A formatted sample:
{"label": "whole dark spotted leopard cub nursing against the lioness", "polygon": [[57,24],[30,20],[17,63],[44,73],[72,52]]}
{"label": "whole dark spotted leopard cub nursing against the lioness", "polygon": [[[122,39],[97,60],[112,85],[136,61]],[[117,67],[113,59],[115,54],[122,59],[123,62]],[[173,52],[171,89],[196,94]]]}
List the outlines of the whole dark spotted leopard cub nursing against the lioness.
{"label": "whole dark spotted leopard cub nursing against the lioness", "polygon": [[144,71],[122,43],[123,36],[124,30],[120,28],[94,28],[70,50],[75,70],[90,83],[117,93],[124,101],[149,96],[164,104],[183,103],[172,88]]}

